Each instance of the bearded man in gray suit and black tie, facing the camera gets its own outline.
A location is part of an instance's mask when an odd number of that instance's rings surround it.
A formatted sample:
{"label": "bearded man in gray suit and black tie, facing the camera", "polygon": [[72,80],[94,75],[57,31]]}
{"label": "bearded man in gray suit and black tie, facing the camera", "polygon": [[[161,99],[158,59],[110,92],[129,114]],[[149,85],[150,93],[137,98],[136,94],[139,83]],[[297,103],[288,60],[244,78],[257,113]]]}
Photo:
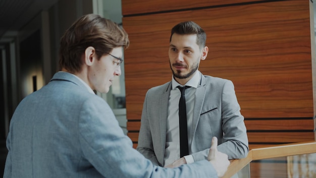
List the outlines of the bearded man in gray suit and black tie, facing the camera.
{"label": "bearded man in gray suit and black tie, facing the camera", "polygon": [[[232,81],[202,75],[205,60],[204,30],[192,21],[181,22],[171,30],[169,60],[172,81],[150,88],[143,104],[137,150],[154,164],[176,167],[207,158],[212,137],[229,159],[247,156],[248,138],[244,117]],[[185,90],[187,153],[180,155],[179,98],[177,86]],[[180,131],[179,131],[180,130]]]}

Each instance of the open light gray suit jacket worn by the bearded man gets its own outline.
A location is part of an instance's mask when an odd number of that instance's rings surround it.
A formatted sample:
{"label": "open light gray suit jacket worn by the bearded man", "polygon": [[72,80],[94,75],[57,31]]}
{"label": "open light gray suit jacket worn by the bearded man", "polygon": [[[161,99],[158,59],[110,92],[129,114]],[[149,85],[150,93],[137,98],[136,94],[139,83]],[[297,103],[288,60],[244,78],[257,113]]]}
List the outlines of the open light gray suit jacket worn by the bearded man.
{"label": "open light gray suit jacket worn by the bearded man", "polygon": [[[212,137],[229,159],[246,157],[249,151],[244,117],[230,80],[201,75],[196,88],[191,151],[194,161],[207,158]],[[141,115],[137,150],[156,165],[164,165],[167,112],[172,82],[150,88]]]}

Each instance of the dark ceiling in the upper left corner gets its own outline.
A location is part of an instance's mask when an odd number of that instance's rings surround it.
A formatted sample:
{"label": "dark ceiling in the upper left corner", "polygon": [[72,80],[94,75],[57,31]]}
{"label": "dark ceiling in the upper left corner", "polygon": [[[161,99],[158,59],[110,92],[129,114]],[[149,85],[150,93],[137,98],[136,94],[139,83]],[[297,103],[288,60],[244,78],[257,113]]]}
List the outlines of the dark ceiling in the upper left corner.
{"label": "dark ceiling in the upper left corner", "polygon": [[0,0],[0,43],[9,42],[17,31],[58,0]]}

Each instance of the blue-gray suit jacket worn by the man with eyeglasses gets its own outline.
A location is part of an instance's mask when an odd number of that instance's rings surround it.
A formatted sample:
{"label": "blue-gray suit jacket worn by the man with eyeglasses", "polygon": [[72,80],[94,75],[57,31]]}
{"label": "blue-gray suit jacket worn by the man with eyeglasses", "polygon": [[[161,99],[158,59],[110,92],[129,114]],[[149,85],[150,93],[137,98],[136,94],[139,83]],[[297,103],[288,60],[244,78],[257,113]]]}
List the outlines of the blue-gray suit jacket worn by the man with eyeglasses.
{"label": "blue-gray suit jacket worn by the man with eyeglasses", "polygon": [[132,148],[109,105],[58,72],[23,99],[10,123],[4,177],[217,177],[208,161],[154,166]]}

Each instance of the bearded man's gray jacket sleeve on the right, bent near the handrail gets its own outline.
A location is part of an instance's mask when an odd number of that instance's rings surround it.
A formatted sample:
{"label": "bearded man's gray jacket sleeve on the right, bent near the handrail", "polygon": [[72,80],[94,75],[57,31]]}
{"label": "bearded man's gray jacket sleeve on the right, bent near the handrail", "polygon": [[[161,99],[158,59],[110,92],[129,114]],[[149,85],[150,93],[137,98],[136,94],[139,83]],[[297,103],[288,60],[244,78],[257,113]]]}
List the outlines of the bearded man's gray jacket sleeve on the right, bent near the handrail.
{"label": "bearded man's gray jacket sleeve on the right, bent near the handrail", "polygon": [[[222,128],[219,128],[219,132],[213,135],[219,139],[218,150],[226,153],[229,159],[244,158],[249,151],[248,138],[244,117],[240,113],[234,85],[230,80],[225,80],[222,86],[220,103],[222,116],[219,127]],[[206,159],[208,151],[209,148],[193,153],[194,161]]]}

